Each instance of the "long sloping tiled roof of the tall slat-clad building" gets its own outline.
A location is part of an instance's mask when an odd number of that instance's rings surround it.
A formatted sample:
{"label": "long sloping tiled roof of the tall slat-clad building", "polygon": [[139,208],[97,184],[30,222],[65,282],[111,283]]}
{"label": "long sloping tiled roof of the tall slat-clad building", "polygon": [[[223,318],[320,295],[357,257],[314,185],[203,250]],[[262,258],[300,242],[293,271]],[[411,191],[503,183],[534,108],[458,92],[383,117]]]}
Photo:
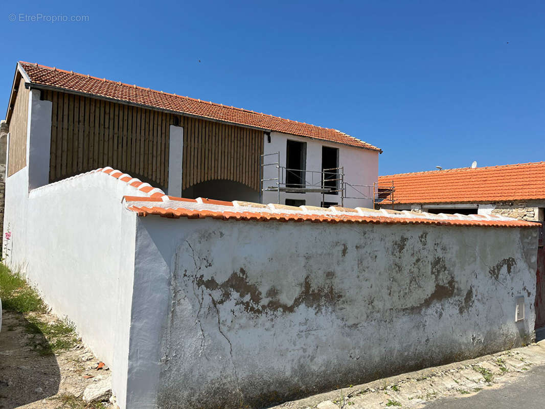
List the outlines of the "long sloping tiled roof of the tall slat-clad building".
{"label": "long sloping tiled roof of the tall slat-clad building", "polygon": [[78,74],[45,65],[20,62],[33,84],[66,89],[79,93],[116,99],[156,109],[179,112],[203,118],[215,119],[247,127],[260,128],[284,134],[306,136],[314,139],[342,143],[344,145],[382,152],[380,148],[360,141],[336,129],[317,127],[302,122],[290,121],[260,112],[214,104],[200,99],[182,97],[149,88],[115,82],[90,75]]}

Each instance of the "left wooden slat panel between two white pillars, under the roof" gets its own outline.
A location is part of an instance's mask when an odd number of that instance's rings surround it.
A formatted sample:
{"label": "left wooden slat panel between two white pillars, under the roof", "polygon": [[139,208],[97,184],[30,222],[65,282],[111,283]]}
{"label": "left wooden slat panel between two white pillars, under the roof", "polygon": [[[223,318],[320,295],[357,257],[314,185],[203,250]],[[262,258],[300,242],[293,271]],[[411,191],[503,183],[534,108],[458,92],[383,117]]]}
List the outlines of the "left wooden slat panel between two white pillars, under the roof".
{"label": "left wooden slat panel between two white pillars, under the roof", "polygon": [[57,91],[52,102],[50,182],[111,166],[165,189],[168,129],[175,115]]}

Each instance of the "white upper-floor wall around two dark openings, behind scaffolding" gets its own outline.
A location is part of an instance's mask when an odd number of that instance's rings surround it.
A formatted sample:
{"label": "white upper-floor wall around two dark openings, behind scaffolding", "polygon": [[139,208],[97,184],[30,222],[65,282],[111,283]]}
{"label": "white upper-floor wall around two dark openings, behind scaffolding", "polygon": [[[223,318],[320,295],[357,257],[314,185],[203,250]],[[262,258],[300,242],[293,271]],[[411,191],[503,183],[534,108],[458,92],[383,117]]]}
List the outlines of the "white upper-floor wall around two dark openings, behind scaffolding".
{"label": "white upper-floor wall around two dark openings, behind scaffolding", "polygon": [[[276,153],[280,152],[280,164],[286,166],[286,149],[287,141],[299,141],[306,142],[306,170],[307,171],[321,171],[322,170],[322,146],[328,146],[339,149],[339,166],[344,166],[344,181],[350,184],[359,185],[373,185],[373,182],[378,180],[378,156],[376,151],[370,151],[368,149],[355,148],[348,145],[342,145],[340,143],[334,143],[329,141],[323,141],[319,139],[312,139],[288,134],[281,134],[277,132],[271,132],[271,142],[267,141],[267,136],[264,136],[264,153]],[[265,163],[273,163],[276,161],[276,156],[265,157]],[[277,177],[277,169],[274,166],[265,166],[264,178],[269,179]],[[320,178],[319,174],[315,175],[315,178]],[[306,179],[311,182],[311,175],[307,173]],[[276,181],[266,181],[263,183],[264,187],[275,185]],[[316,179],[315,179],[316,182]],[[319,183],[318,183],[319,185]],[[372,188],[358,188],[364,189],[363,193],[372,197]],[[354,189],[347,189],[347,196],[361,197],[361,194]],[[320,206],[322,202],[322,194],[320,193],[281,193],[280,203],[284,204],[286,199],[304,199],[308,206]],[[340,195],[325,195],[326,202],[338,202],[341,206]],[[263,203],[277,203],[276,192],[265,192],[263,195]],[[358,200],[358,199],[346,199],[344,200],[345,207],[373,207],[373,201],[371,200]]]}

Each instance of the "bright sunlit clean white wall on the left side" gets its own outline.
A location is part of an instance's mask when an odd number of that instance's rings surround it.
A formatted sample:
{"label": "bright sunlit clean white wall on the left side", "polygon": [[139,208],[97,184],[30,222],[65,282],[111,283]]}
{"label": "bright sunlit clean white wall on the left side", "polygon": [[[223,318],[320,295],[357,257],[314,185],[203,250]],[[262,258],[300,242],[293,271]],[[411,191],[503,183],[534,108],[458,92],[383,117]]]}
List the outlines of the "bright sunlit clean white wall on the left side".
{"label": "bright sunlit clean white wall on the left side", "polygon": [[5,221],[13,240],[7,263],[25,266],[53,312],[68,316],[83,342],[112,368],[114,392],[124,408],[136,214],[121,198],[144,194],[103,172],[27,193],[27,169],[7,181]]}

